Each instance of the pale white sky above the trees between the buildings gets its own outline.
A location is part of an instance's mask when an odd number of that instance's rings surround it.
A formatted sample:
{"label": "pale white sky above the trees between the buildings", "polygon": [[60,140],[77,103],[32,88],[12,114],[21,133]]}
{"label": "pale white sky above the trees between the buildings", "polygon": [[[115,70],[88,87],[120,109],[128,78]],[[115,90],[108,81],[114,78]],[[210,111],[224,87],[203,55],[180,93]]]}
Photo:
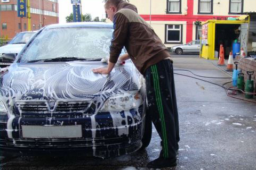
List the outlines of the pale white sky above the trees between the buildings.
{"label": "pale white sky above the trees between the buildings", "polygon": [[[92,19],[99,16],[100,19],[106,18],[104,3],[102,0],[81,0],[82,13],[90,13]],[[73,7],[70,0],[59,0],[59,20],[60,23],[66,22],[66,16],[73,12]]]}

